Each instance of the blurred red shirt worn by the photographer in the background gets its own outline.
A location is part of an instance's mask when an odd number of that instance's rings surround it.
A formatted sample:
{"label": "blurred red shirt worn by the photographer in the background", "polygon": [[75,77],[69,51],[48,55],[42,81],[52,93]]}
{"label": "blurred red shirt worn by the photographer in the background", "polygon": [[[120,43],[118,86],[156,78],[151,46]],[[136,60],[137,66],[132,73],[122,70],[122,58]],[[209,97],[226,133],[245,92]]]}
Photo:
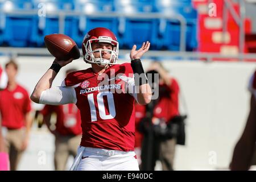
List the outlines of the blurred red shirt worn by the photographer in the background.
{"label": "blurred red shirt worn by the photographer in the background", "polygon": [[172,78],[170,86],[159,83],[159,99],[154,107],[154,117],[164,118],[168,122],[175,115],[179,115],[179,85]]}

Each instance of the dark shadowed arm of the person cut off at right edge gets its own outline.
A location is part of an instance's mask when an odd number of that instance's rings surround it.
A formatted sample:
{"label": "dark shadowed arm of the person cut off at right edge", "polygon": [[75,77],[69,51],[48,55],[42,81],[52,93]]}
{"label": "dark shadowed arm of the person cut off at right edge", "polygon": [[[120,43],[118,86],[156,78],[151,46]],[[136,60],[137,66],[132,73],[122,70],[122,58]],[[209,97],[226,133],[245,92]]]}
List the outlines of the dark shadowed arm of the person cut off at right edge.
{"label": "dark shadowed arm of the person cut off at right edge", "polygon": [[234,148],[231,170],[248,170],[256,142],[256,101],[251,94],[250,113],[243,134]]}

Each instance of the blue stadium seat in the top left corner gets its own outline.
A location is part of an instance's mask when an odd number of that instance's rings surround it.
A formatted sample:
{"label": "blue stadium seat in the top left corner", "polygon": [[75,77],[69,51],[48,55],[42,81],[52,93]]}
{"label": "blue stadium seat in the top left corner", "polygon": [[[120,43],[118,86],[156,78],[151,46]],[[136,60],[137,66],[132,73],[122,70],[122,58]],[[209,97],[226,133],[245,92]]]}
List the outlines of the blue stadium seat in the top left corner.
{"label": "blue stadium seat in the top left corner", "polygon": [[1,19],[3,42],[13,47],[25,47],[30,43],[31,27],[34,23],[32,15],[8,14],[17,10],[31,10],[33,8],[29,0],[4,1],[2,4]]}

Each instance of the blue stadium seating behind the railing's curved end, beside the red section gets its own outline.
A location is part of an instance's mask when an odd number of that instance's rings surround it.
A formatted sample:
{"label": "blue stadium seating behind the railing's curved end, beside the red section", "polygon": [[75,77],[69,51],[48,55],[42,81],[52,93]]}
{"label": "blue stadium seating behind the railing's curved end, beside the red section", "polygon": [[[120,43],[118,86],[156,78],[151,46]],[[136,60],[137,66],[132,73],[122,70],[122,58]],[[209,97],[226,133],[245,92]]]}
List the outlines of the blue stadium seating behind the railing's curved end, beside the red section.
{"label": "blue stadium seating behind the railing's curved end, beside the red section", "polygon": [[[187,51],[193,51],[197,47],[197,11],[193,9],[191,1],[172,1],[170,6],[156,4],[159,13],[167,14],[170,17],[182,15],[187,22],[186,45]],[[167,48],[171,51],[179,51],[181,24],[175,19],[164,19],[165,26],[159,25],[160,48]]]}

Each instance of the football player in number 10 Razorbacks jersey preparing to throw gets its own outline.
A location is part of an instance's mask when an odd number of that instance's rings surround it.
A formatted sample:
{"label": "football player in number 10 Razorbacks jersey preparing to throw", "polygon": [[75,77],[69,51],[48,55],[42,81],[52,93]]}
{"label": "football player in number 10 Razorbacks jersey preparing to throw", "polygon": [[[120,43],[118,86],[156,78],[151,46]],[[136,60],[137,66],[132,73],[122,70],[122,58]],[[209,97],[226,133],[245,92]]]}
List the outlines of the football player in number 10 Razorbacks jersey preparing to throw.
{"label": "football player in number 10 Razorbacks jersey preparing to throw", "polygon": [[117,38],[107,28],[94,28],[82,42],[84,61],[91,68],[70,73],[60,87],[51,88],[59,70],[72,62],[55,59],[40,78],[32,101],[75,103],[80,109],[82,139],[72,170],[139,170],[134,152],[134,102],[151,101],[151,88],[140,60],[149,48],[149,42],[138,50],[134,45],[131,63],[117,64]]}

